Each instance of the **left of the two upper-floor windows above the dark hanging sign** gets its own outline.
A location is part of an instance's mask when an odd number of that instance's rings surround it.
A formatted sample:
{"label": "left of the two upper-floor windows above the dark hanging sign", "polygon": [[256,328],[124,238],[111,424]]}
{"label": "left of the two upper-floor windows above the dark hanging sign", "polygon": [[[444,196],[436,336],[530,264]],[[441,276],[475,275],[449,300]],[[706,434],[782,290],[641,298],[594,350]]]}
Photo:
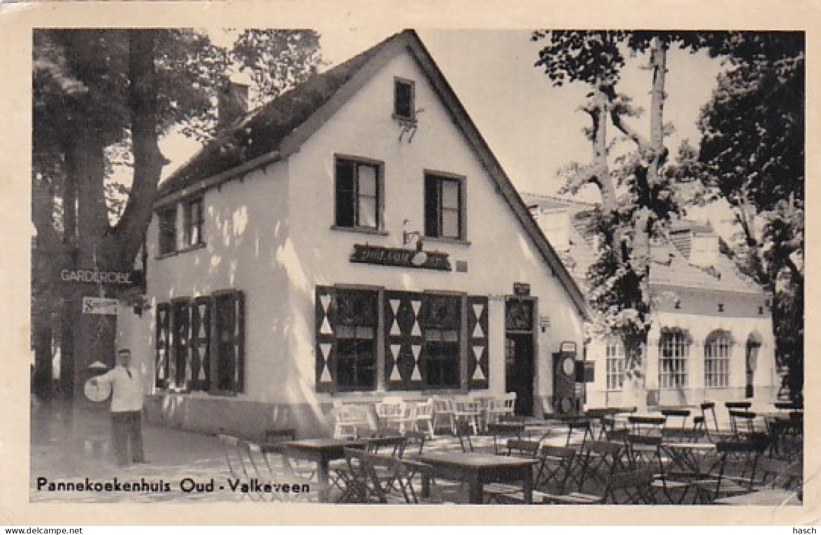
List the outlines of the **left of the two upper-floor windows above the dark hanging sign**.
{"label": "left of the two upper-floor windows above the dark hanging sign", "polygon": [[382,228],[383,164],[337,156],[334,228],[379,231]]}

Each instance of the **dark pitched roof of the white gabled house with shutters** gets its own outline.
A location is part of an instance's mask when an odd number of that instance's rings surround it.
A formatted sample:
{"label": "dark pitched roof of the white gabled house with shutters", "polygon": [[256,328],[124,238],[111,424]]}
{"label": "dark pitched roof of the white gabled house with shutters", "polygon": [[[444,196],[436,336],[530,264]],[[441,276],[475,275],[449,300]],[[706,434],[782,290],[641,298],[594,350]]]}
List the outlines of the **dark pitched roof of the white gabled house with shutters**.
{"label": "dark pitched roof of the white gabled house with shutters", "polygon": [[511,212],[539,249],[553,275],[561,281],[582,317],[591,318],[589,306],[579,286],[548,243],[507,173],[414,30],[404,30],[392,35],[364,53],[351,57],[329,71],[312,76],[305,84],[251,112],[226,135],[215,139],[172,173],[161,185],[155,204],[160,206],[173,202],[197,190],[214,187],[270,162],[287,158],[373,75],[403,52],[410,53],[415,58],[443,106],[488,171],[499,194],[507,201]]}

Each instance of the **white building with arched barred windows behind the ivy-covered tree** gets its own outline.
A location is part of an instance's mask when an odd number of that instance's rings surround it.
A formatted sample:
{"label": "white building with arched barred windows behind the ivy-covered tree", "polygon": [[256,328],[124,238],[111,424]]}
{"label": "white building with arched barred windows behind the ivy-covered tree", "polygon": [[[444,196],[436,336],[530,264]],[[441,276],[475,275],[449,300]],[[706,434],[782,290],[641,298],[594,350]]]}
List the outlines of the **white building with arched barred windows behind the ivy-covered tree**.
{"label": "white building with arched barred windows behind the ivy-covered tree", "polygon": [[[593,204],[523,194],[557,254],[584,287],[595,260],[585,228]],[[646,400],[649,406],[699,405],[705,400],[749,400],[768,408],[781,378],[775,362],[770,297],[742,277],[719,250],[709,225],[677,222],[669,239],[653,245],[650,265],[653,327],[649,333]],[[593,337],[587,359],[594,382],[588,407],[623,406],[624,349],[617,337]],[[721,412],[721,411],[719,411]],[[720,417],[726,415],[719,414]]]}

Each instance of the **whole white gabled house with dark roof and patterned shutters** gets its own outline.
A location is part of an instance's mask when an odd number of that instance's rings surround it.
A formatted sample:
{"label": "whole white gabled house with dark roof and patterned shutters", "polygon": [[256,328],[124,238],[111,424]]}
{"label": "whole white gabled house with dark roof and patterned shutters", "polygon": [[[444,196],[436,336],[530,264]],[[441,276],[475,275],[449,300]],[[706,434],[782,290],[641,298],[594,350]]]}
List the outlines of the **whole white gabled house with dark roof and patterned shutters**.
{"label": "whole white gabled house with dark roof and patterned shutters", "polygon": [[540,414],[583,341],[576,282],[410,30],[195,155],[147,248],[151,309],[121,339],[184,428],[319,434],[334,401],[388,395]]}

